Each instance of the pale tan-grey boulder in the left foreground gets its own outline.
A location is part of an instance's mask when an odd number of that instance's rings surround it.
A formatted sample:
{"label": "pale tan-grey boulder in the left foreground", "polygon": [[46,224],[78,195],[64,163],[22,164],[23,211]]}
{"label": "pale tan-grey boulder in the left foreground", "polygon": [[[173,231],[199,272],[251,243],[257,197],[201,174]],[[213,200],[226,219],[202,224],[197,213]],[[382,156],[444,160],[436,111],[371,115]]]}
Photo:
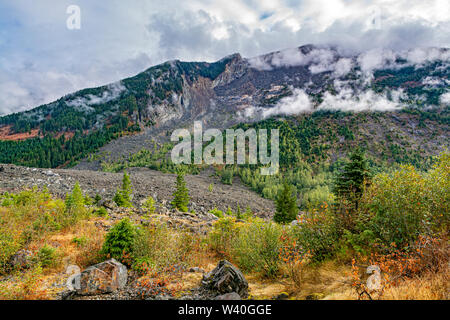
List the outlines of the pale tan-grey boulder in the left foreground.
{"label": "pale tan-grey boulder in the left foreground", "polygon": [[94,295],[115,292],[127,284],[127,267],[111,259],[84,270],[73,278],[77,294]]}

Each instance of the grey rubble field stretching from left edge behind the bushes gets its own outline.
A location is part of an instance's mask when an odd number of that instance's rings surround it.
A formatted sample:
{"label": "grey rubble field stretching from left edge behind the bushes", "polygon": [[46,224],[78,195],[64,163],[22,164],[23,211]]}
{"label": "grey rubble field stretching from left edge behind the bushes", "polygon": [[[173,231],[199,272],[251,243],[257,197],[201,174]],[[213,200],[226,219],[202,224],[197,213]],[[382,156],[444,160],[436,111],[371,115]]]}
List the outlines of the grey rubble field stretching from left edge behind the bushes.
{"label": "grey rubble field stretching from left edge behind the bushes", "polygon": [[[175,190],[175,175],[146,168],[131,168],[128,173],[136,204],[152,196],[162,207],[169,206]],[[233,185],[224,185],[213,176],[213,171],[205,170],[199,175],[187,175],[185,179],[191,198],[190,209],[197,213],[205,214],[213,208],[225,211],[231,207],[236,210],[238,204],[242,211],[250,207],[253,213],[262,217],[269,217],[274,212],[272,201],[249,190],[238,178],[235,178]],[[110,200],[121,185],[122,173],[0,165],[0,192],[17,192],[37,186],[47,187],[51,193],[64,197],[76,181],[92,198],[98,193],[103,200]]]}

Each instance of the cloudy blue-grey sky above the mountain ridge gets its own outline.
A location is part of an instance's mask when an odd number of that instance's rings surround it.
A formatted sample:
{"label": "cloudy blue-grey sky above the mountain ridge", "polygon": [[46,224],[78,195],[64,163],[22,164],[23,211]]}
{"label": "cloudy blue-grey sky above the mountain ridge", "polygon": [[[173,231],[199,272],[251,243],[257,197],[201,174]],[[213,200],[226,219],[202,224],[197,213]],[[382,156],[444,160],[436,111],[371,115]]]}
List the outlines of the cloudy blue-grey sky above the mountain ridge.
{"label": "cloudy blue-grey sky above the mountain ridge", "polygon": [[[70,29],[67,9],[80,9]],[[70,20],[73,21],[73,20]],[[448,0],[0,0],[0,115],[173,59],[450,47]]]}

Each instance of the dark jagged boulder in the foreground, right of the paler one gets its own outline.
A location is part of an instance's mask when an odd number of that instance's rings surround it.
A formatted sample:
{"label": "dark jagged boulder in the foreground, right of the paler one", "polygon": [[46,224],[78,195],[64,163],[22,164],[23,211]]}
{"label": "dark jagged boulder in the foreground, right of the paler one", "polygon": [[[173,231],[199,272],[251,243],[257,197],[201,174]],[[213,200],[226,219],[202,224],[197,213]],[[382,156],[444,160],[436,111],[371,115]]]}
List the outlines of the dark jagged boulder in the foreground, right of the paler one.
{"label": "dark jagged boulder in the foreground, right of the paler one", "polygon": [[242,272],[227,260],[219,262],[217,267],[203,276],[201,287],[218,295],[237,293],[241,298],[248,296],[248,282]]}

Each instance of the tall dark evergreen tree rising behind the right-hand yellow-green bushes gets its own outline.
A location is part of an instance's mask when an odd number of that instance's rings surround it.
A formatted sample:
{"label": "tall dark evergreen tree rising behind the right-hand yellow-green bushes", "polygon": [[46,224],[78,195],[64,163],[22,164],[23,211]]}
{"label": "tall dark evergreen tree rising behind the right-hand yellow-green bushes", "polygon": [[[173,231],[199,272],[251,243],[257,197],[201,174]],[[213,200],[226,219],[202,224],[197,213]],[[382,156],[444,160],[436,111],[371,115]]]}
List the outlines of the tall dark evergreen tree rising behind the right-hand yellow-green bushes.
{"label": "tall dark evergreen tree rising behind the right-hand yellow-green bushes", "polygon": [[368,178],[370,178],[369,165],[364,152],[358,148],[350,154],[350,161],[336,177],[334,193],[339,199],[349,200],[357,205],[364,189],[364,181]]}

